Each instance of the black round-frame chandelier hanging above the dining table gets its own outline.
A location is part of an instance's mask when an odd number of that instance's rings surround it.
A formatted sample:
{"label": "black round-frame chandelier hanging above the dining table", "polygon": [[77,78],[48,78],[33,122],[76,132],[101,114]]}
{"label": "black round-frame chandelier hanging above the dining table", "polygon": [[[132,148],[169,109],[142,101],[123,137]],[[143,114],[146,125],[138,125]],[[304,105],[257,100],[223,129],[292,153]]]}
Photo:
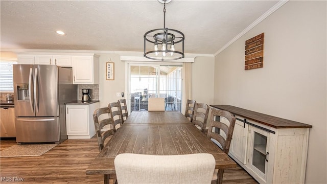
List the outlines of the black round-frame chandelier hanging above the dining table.
{"label": "black round-frame chandelier hanging above the dining table", "polygon": [[[144,57],[146,58],[171,61],[184,57],[184,34],[178,30],[166,28],[166,3],[171,1],[158,0],[164,4],[164,28],[150,30],[144,34]],[[147,50],[147,43],[151,45],[149,50]],[[161,49],[159,49],[158,44],[161,45]]]}

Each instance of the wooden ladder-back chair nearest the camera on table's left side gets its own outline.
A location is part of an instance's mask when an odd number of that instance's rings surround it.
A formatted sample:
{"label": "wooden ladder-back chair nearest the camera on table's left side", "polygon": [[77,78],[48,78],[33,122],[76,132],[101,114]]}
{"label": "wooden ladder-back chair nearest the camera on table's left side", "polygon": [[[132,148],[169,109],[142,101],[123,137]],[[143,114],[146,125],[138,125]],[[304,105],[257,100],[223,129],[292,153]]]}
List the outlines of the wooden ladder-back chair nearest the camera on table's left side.
{"label": "wooden ladder-back chair nearest the camera on table's left side", "polygon": [[[93,113],[93,120],[96,128],[96,134],[97,134],[98,146],[100,152],[104,148],[105,142],[108,141],[108,137],[110,135],[113,135],[115,132],[113,121],[111,121],[110,117],[111,117],[110,109],[108,107],[98,108]],[[108,129],[108,125],[111,125],[112,129]],[[115,182],[116,175],[111,174],[109,176],[107,174],[104,174],[103,179],[105,183],[109,183],[109,179],[113,179]]]}

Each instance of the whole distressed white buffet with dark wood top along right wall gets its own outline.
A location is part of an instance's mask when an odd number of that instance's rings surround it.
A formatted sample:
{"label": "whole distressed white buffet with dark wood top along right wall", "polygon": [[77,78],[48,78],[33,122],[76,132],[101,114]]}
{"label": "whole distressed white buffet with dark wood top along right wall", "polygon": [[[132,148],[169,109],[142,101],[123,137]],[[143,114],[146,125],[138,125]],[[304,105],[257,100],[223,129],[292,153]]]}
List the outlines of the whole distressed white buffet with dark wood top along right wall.
{"label": "whole distressed white buffet with dark wood top along right wall", "polygon": [[[311,125],[233,107],[237,118],[229,156],[259,183],[305,183]],[[223,121],[223,120],[222,120]]]}

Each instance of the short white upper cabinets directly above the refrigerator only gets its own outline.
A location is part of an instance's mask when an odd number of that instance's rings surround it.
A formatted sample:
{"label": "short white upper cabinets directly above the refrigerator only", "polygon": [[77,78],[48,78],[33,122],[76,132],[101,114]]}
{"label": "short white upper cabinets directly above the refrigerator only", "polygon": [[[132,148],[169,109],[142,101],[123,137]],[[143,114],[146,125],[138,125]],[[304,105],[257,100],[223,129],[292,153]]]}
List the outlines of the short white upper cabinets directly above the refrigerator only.
{"label": "short white upper cabinets directly above the refrigerator only", "polygon": [[45,54],[17,54],[18,64],[53,64],[58,66],[72,66],[70,55],[45,55]]}

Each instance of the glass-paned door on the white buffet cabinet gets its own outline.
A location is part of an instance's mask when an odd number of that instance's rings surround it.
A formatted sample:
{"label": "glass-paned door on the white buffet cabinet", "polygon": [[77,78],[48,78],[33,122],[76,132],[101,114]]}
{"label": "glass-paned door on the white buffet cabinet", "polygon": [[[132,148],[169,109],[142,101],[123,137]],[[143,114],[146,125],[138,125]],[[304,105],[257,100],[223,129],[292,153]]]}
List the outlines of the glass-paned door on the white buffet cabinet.
{"label": "glass-paned door on the white buffet cabinet", "polygon": [[266,180],[269,156],[269,132],[249,126],[247,164]]}

